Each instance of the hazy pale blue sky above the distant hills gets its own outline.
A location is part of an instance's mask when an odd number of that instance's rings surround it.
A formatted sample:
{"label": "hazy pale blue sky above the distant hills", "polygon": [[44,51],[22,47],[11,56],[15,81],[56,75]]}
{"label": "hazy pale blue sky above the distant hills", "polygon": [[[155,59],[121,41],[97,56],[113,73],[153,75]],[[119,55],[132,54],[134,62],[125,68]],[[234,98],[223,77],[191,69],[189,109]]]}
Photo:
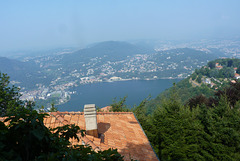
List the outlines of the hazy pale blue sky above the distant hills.
{"label": "hazy pale blue sky above the distant hills", "polygon": [[0,0],[0,51],[240,34],[240,0]]}

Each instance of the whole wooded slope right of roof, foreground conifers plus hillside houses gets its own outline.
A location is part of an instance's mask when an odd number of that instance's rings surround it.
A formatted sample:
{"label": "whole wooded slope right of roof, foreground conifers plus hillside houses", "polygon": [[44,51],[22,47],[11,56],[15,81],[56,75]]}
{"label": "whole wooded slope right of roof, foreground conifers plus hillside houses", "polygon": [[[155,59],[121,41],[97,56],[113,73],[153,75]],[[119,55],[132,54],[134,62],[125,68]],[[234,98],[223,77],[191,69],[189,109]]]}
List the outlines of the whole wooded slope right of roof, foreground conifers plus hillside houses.
{"label": "whole wooded slope right of roof, foreground conifers plus hillside houses", "polygon": [[135,107],[160,160],[239,160],[239,67],[239,59],[211,61]]}

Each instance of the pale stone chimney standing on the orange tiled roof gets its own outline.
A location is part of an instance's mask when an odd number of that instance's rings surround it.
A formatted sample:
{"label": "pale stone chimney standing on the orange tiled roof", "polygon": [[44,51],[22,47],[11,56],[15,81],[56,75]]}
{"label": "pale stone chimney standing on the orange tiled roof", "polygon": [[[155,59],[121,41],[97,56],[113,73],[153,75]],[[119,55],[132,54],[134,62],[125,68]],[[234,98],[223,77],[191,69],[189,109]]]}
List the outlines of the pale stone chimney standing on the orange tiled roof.
{"label": "pale stone chimney standing on the orange tiled roof", "polygon": [[95,104],[87,104],[84,106],[84,117],[86,123],[86,133],[88,135],[98,137],[97,112]]}

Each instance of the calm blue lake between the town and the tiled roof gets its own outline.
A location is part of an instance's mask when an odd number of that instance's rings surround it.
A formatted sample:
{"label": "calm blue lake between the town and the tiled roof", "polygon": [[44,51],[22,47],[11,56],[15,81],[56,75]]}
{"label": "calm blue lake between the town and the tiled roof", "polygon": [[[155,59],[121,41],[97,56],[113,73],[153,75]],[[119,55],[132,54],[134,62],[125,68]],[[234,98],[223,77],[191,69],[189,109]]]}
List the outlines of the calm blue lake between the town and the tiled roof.
{"label": "calm blue lake between the town and the tiled roof", "polygon": [[72,89],[76,94],[69,102],[57,107],[59,111],[82,111],[85,104],[96,104],[101,108],[109,106],[114,98],[119,100],[127,96],[126,105],[132,108],[149,95],[155,98],[178,81],[180,79],[133,80],[81,85]]}

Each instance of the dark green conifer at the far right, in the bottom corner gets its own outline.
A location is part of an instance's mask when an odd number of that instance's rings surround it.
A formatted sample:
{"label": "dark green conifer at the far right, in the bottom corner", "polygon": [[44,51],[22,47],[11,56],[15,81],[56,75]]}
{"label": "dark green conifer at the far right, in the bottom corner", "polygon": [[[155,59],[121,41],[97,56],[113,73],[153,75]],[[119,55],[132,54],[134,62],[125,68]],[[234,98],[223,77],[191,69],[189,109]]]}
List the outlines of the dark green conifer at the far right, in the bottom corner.
{"label": "dark green conifer at the far right, in the bottom corner", "polygon": [[227,98],[222,96],[214,108],[202,108],[199,119],[204,126],[204,149],[208,160],[238,160],[240,157],[240,112],[231,108]]}

